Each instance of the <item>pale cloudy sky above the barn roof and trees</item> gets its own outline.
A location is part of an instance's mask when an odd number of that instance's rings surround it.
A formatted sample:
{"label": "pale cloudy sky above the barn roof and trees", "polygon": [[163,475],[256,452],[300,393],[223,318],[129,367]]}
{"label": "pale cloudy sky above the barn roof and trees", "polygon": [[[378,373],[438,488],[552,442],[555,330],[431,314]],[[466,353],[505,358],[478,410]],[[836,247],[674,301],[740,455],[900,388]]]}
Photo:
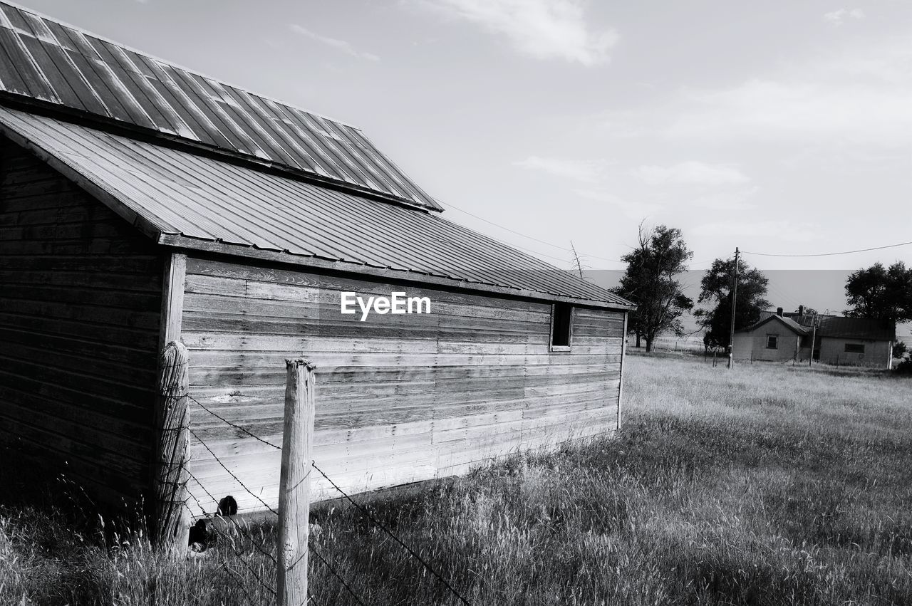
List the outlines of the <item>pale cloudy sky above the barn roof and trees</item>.
{"label": "pale cloudy sky above the barn roof and trees", "polygon": [[358,126],[451,220],[565,267],[570,241],[623,267],[643,220],[683,230],[698,269],[912,241],[906,0],[24,4]]}

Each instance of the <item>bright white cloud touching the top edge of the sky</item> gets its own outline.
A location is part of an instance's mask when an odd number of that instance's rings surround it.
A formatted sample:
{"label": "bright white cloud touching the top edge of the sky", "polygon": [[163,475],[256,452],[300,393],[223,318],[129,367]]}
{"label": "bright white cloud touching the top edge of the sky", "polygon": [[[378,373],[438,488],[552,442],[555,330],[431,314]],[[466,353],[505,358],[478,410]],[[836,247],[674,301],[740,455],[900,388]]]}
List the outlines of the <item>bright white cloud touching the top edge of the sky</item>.
{"label": "bright white cloud touching the top edge of the sky", "polygon": [[500,36],[523,55],[604,64],[617,32],[590,30],[583,0],[423,0],[445,15],[470,21]]}

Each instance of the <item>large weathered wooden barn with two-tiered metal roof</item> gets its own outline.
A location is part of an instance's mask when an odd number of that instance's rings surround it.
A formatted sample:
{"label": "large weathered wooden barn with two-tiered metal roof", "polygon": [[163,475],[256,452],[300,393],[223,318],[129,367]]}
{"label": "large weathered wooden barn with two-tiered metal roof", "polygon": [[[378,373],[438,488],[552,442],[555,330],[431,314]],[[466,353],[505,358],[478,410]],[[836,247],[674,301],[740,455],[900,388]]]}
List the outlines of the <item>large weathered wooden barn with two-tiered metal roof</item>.
{"label": "large weathered wooden barn with two-tiered metal roof", "polygon": [[349,490],[619,425],[632,305],[444,219],[358,128],[5,2],[0,49],[6,444],[136,498],[176,340],[210,513],[263,507],[237,480],[275,506],[280,453],[245,432],[281,440],[290,357]]}

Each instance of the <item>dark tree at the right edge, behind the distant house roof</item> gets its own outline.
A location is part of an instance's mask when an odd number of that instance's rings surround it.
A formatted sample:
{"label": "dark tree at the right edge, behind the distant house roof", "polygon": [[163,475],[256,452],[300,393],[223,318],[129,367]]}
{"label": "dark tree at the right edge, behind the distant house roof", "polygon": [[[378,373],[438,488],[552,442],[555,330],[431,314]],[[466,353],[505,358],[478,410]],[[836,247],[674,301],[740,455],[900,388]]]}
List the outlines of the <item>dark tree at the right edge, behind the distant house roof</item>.
{"label": "dark tree at the right edge, behind the distant house roof", "polygon": [[845,315],[885,322],[912,320],[912,267],[897,261],[889,267],[876,262],[852,272],[845,280]]}

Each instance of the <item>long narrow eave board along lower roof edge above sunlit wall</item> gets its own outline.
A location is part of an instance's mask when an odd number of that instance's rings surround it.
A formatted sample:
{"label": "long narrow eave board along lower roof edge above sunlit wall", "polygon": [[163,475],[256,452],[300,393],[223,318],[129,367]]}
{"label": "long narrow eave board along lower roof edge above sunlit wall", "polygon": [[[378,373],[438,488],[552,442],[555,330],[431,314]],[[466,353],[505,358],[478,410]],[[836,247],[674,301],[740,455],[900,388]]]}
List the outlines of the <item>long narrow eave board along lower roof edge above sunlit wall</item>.
{"label": "long narrow eave board along lower roof edge above sunlit wall", "polygon": [[498,286],[495,284],[486,284],[483,282],[458,280],[455,278],[429,275],[426,273],[412,272],[409,270],[370,267],[361,263],[333,261],[310,255],[295,254],[293,252],[269,251],[255,248],[253,246],[246,246],[244,244],[231,244],[220,241],[203,240],[200,238],[192,238],[190,236],[175,233],[161,233],[156,241],[158,241],[158,243],[163,246],[171,246],[188,251],[214,252],[231,255],[233,257],[255,259],[257,261],[291,263],[294,265],[304,266],[317,270],[357,273],[359,275],[368,275],[376,278],[393,279],[398,282],[415,282],[420,284],[429,284],[431,286],[458,288],[470,291],[478,291],[482,293],[500,294],[511,297],[521,297],[525,299],[535,299],[549,303],[573,303],[575,305],[585,305],[587,307],[598,307],[602,309],[612,309],[625,312],[632,312],[637,309],[637,305],[633,303],[620,303],[580,297],[570,297],[561,294],[542,293],[528,289],[510,288],[505,286]]}

